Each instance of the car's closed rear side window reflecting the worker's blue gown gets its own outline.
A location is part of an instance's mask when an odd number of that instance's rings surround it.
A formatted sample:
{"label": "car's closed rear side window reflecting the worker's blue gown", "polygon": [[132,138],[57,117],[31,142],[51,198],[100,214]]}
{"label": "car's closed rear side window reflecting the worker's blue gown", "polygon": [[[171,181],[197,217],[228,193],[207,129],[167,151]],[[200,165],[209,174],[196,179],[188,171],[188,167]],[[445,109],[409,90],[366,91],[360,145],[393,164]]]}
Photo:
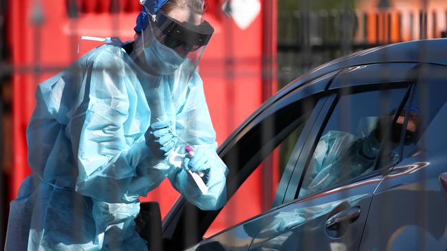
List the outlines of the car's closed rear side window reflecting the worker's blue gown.
{"label": "car's closed rear side window reflecting the worker's blue gown", "polygon": [[[397,163],[400,139],[386,132],[399,128],[395,123],[403,123],[404,117],[400,114],[397,119],[396,112],[407,93],[407,88],[396,88],[342,94],[308,160],[298,198],[373,171],[385,136],[391,142],[386,141],[389,144],[382,154],[389,156],[389,166]],[[400,135],[400,128],[393,133]]]}

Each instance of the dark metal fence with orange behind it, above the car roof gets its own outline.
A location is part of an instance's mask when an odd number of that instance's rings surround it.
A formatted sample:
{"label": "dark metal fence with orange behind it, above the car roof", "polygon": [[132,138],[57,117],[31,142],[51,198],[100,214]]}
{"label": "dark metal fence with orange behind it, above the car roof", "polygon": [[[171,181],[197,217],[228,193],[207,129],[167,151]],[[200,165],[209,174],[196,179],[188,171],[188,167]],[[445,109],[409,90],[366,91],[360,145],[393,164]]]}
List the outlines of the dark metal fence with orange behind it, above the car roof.
{"label": "dark metal fence with orange behind it, above the car roof", "polygon": [[[444,25],[439,25],[443,23]],[[278,70],[283,86],[320,64],[353,51],[447,36],[447,9],[319,10],[278,14]]]}

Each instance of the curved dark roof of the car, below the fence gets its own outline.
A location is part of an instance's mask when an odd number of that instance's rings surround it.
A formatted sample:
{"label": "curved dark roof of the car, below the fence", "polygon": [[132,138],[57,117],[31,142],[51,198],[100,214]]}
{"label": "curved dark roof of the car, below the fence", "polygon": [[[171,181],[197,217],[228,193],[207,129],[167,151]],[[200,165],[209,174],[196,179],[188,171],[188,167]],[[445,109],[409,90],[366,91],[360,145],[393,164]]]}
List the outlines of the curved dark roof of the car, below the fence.
{"label": "curved dark roof of the car, below the fence", "polygon": [[[242,128],[244,128],[254,117],[257,117],[265,108],[268,108],[281,97],[291,93],[299,86],[315,80],[318,77],[345,69],[347,67],[355,67],[365,64],[378,64],[378,63],[397,63],[397,62],[413,62],[413,63],[430,63],[430,64],[444,64],[447,65],[447,38],[428,39],[428,40],[414,40],[404,43],[396,43],[391,45],[383,45],[380,47],[374,47],[371,49],[365,49],[351,53],[347,56],[337,58],[326,64],[322,64],[316,67],[312,71],[301,75],[296,80],[287,84],[284,88],[278,91],[270,99],[265,101],[255,112],[252,113],[244,121],[239,128],[235,130],[228,139],[231,139],[233,135],[237,134]],[[227,141],[228,141],[227,139]],[[221,147],[226,145],[224,142]]]}

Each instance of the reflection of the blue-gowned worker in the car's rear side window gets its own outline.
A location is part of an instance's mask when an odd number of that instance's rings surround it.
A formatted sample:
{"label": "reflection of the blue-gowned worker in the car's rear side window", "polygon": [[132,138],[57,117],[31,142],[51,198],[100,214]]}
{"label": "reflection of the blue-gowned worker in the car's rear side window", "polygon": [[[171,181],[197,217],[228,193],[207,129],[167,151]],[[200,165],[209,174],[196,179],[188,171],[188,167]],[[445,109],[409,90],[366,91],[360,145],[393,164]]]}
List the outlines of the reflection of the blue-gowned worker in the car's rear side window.
{"label": "reflection of the blue-gowned worker in the car's rear side window", "polygon": [[[415,134],[419,125],[419,109],[412,107],[404,136],[404,144],[415,141]],[[330,130],[321,136],[312,160],[307,167],[307,173],[301,186],[299,197],[316,193],[340,181],[356,178],[366,174],[375,167],[375,161],[380,154],[380,147],[385,147],[381,162],[395,165],[399,155],[395,148],[401,141],[402,127],[404,126],[406,110],[403,110],[395,119],[395,111],[390,112],[375,122],[373,130],[367,136],[354,136],[348,132]],[[386,130],[391,128],[389,134]],[[389,140],[384,141],[388,136]],[[386,142],[386,144],[382,144]],[[391,164],[390,164],[391,163]]]}

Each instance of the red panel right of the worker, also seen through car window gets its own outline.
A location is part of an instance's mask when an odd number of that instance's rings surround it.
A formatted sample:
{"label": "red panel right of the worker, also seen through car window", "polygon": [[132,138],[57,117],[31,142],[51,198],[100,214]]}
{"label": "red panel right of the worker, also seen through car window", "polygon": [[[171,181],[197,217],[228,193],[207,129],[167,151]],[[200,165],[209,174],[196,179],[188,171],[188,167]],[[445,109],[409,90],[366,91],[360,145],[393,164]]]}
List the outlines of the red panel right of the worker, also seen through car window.
{"label": "red panel right of the worker, also seen through car window", "polygon": [[[217,57],[218,66],[213,69],[214,61],[210,60],[210,64],[201,65],[201,72],[204,73],[206,91],[210,92],[207,97],[212,97],[207,100],[215,128],[217,132],[226,132],[223,135],[227,136],[276,91],[276,1],[262,1],[259,16],[247,29],[240,29],[227,16],[222,16],[221,20],[215,20],[217,25],[212,23],[217,32],[204,57]],[[226,68],[225,60],[234,60],[232,69]],[[225,96],[224,93],[231,95]],[[265,160],[264,166],[243,183],[212,223],[206,236],[261,213],[266,204],[271,205],[265,197],[272,198],[276,192],[278,154],[275,151],[270,160]]]}

